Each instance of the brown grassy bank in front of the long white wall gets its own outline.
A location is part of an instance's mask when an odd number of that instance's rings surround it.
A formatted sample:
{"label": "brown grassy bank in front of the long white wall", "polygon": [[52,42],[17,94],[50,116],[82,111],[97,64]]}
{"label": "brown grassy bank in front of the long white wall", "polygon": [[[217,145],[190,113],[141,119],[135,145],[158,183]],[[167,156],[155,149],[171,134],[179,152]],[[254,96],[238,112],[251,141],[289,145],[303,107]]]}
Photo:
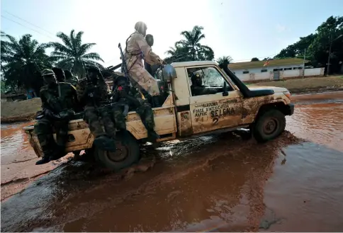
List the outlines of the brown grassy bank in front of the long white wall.
{"label": "brown grassy bank in front of the long white wall", "polygon": [[288,79],[280,81],[262,81],[249,86],[284,87],[291,93],[343,90],[343,76],[327,76],[305,79]]}

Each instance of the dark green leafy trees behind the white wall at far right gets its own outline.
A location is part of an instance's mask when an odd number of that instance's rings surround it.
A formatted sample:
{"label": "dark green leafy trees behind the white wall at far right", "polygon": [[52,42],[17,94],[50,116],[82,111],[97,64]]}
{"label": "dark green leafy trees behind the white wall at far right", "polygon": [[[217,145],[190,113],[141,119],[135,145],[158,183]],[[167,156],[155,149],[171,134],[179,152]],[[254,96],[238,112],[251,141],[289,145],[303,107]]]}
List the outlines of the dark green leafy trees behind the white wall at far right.
{"label": "dark green leafy trees behind the white wall at far right", "polygon": [[305,59],[310,60],[313,67],[327,67],[329,50],[330,72],[339,72],[343,61],[343,17],[330,16],[323,22],[313,34],[300,38],[293,45],[288,45],[286,49],[281,50],[276,58],[299,57],[303,58],[306,50]]}

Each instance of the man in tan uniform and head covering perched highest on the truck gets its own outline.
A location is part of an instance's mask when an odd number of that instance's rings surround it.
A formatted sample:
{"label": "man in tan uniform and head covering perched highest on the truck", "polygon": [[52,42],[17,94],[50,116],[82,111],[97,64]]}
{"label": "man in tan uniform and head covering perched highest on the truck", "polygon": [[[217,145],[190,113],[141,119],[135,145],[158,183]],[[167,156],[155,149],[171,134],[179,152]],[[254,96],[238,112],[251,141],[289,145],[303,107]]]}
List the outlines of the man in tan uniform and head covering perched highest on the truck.
{"label": "man in tan uniform and head covering perched highest on the truck", "polygon": [[159,87],[156,79],[144,68],[142,59],[150,65],[167,64],[159,58],[145,40],[147,25],[143,22],[135,24],[135,33],[126,40],[125,62],[128,67],[130,78],[137,88],[142,88],[152,96],[152,105],[159,106]]}

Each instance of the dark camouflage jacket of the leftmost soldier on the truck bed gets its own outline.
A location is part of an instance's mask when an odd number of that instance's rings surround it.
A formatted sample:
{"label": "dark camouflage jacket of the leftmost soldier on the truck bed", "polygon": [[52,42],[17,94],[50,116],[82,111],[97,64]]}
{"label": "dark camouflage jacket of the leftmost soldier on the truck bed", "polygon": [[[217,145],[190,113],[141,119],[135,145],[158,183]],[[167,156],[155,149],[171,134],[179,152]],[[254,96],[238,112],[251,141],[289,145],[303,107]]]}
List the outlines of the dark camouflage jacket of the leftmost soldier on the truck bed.
{"label": "dark camouflage jacket of the leftmost soldier on the truck bed", "polygon": [[53,113],[61,113],[63,110],[74,109],[77,106],[77,91],[71,84],[59,82],[53,88],[42,86],[40,89],[42,108],[52,110]]}

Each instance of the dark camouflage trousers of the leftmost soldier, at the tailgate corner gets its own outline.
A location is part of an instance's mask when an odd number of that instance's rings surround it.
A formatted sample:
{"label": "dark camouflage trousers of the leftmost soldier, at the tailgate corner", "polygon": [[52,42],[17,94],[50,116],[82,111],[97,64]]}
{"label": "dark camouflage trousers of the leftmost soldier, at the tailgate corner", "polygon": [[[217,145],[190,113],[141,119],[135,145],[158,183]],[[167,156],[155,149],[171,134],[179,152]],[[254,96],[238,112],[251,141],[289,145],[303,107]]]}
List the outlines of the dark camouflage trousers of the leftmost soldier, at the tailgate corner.
{"label": "dark camouflage trousers of the leftmost soldier, at the tailgate corner", "polygon": [[[65,144],[68,141],[68,125],[69,120],[50,120],[47,117],[43,117],[37,120],[35,123],[35,133],[38,137],[40,147],[43,150],[43,154],[56,153],[57,147],[58,152],[64,152]],[[52,127],[55,127],[56,142],[52,136]]]}

